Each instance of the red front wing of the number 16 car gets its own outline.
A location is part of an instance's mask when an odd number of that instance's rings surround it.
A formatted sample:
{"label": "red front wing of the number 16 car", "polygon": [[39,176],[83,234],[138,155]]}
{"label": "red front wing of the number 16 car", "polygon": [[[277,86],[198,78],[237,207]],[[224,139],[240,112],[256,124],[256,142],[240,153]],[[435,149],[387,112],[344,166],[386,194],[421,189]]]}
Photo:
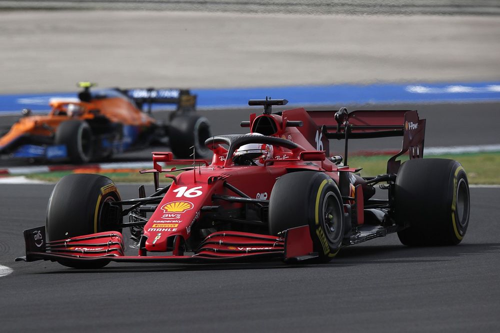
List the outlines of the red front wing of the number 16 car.
{"label": "red front wing of the number 16 car", "polygon": [[[216,232],[200,244],[194,254],[125,256],[123,236],[102,232],[66,240],[47,242],[45,227],[24,230],[26,256],[16,261],[50,260],[60,263],[220,263],[281,259],[298,262],[317,257],[313,252],[308,226],[285,230],[281,236],[235,231]],[[140,253],[140,252],[139,252]]]}

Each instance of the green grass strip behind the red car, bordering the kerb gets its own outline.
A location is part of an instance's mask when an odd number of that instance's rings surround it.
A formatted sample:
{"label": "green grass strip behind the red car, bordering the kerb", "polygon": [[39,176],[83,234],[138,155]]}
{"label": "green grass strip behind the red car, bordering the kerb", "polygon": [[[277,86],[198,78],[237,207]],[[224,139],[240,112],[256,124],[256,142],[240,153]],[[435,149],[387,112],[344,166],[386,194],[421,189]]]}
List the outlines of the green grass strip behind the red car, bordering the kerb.
{"label": "green grass strip behind the red car, bordering the kerb", "polygon": [[[470,184],[500,184],[500,153],[470,153],[458,155],[432,155],[425,158],[448,158],[460,162],[467,172]],[[389,156],[352,156],[348,158],[349,165],[355,168],[363,168],[361,176],[376,176],[385,173]],[[407,159],[403,158],[401,160]],[[58,171],[26,175],[28,179],[56,182],[61,177],[70,174],[71,171]],[[107,176],[116,183],[152,183],[152,174],[139,174],[138,172],[98,172]],[[161,183],[169,183],[160,175]]]}

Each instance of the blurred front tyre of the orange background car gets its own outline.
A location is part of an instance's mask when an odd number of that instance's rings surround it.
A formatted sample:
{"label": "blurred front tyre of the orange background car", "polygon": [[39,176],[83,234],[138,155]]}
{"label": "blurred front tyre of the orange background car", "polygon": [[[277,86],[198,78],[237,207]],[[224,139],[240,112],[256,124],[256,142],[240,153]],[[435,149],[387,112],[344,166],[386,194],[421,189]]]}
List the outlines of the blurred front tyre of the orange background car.
{"label": "blurred front tyre of the orange background car", "polygon": [[72,163],[87,163],[92,157],[92,130],[82,120],[62,122],[55,131],[55,144],[66,145],[67,154]]}

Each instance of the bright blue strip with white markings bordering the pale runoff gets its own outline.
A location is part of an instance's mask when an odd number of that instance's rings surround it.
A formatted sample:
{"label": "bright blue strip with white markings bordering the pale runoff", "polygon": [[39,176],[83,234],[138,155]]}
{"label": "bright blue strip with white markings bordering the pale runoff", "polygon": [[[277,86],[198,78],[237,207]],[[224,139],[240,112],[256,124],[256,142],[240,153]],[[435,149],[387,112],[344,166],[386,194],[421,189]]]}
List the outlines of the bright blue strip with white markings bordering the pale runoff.
{"label": "bright blue strip with white markings bordering the pale runoff", "polygon": [[[233,89],[192,89],[198,108],[246,107],[248,99],[285,98],[294,105],[392,104],[413,102],[500,101],[500,82],[316,85]],[[49,110],[50,98],[76,97],[76,92],[0,95],[0,112]],[[156,106],[164,109],[164,106]]]}

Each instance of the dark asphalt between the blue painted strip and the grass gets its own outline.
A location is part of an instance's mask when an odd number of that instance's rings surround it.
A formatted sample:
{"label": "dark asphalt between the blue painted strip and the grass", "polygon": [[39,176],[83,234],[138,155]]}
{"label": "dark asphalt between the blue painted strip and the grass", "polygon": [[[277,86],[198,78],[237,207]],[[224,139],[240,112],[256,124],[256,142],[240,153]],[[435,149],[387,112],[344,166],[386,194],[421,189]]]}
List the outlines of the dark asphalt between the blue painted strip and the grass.
{"label": "dark asphalt between the blue painted strip and the grass", "polygon": [[[286,96],[279,96],[286,97]],[[443,104],[391,104],[391,105],[333,105],[328,107],[306,107],[307,110],[338,110],[346,106],[349,111],[373,109],[409,109],[418,110],[420,118],[426,118],[425,147],[463,146],[500,143],[498,126],[500,124],[500,103],[443,103]],[[289,108],[293,108],[291,106]],[[284,109],[284,108],[281,108]],[[275,107],[277,111],[280,108]],[[250,113],[260,113],[259,107],[247,107],[231,110],[199,110],[198,113],[208,118],[212,134],[247,133],[247,128],[239,126],[240,121],[248,120]],[[157,119],[167,119],[168,112],[153,114]],[[332,112],[333,116],[333,112]],[[18,117],[0,117],[0,127],[9,126]],[[371,140],[350,140],[349,151],[359,150],[398,150],[400,137]],[[117,155],[114,161],[149,160],[151,149]],[[154,150],[168,150],[168,147],[155,147]],[[343,155],[343,141],[330,142],[330,153]],[[0,160],[0,166],[23,165],[25,161],[12,162]]]}

